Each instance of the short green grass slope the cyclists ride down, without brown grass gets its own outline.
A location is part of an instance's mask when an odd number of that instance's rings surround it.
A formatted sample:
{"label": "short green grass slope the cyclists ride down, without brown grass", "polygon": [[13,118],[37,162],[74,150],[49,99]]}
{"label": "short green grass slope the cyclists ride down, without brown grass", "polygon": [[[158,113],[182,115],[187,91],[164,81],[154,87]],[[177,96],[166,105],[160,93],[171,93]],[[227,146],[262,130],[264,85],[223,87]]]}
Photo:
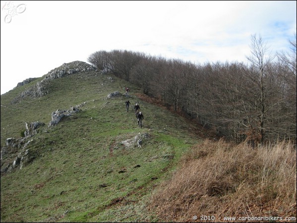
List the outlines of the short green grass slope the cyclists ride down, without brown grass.
{"label": "short green grass slope the cyclists ride down, without brown grass", "polygon": [[[49,93],[11,102],[39,78],[1,95],[1,147],[20,138],[25,122],[40,121],[26,149],[34,158],[1,174],[1,222],[150,222],[151,192],[175,170],[180,157],[198,142],[194,126],[182,117],[136,97],[140,89],[112,75],[77,72],[53,79]],[[125,96],[107,99],[129,86]],[[84,105],[49,128],[53,111]],[[132,111],[144,114],[143,128]],[[142,147],[134,139],[143,138]],[[1,169],[19,151],[1,154]]]}

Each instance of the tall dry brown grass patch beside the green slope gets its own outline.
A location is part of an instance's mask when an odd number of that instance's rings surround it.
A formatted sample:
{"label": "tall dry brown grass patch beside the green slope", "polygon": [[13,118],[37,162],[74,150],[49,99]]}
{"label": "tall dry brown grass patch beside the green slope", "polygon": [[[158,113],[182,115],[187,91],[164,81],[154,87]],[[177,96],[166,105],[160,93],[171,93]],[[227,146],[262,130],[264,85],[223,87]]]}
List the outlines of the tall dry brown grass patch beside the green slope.
{"label": "tall dry brown grass patch beside the green slope", "polygon": [[150,207],[163,222],[203,222],[200,216],[214,216],[213,222],[296,217],[296,149],[284,142],[252,149],[206,140],[184,157]]}

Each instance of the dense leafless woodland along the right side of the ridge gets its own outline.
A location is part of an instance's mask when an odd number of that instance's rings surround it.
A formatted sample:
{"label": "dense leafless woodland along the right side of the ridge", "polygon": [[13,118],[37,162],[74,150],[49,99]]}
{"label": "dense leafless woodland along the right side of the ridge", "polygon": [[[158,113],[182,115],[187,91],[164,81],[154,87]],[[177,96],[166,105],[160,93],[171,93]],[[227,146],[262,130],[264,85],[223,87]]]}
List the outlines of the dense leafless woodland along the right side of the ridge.
{"label": "dense leafless woodland along the right side of the ridge", "polygon": [[252,35],[246,63],[194,64],[123,50],[95,52],[88,62],[219,136],[251,145],[284,139],[296,144],[296,35],[288,42],[290,52],[272,55]]}

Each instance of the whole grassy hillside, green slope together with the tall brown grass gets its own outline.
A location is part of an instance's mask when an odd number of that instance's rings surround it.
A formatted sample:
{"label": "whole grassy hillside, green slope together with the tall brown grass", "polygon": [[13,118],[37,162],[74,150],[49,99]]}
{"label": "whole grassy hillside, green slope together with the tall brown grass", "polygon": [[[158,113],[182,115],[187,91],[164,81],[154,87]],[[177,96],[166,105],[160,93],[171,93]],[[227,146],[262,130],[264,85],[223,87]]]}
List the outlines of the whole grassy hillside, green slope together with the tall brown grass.
{"label": "whole grassy hillside, green slope together with the tall brown grass", "polygon": [[[97,71],[52,79],[45,96],[19,100],[43,78],[1,95],[1,222],[296,222],[296,145],[205,140],[210,132]],[[48,127],[53,111],[77,105]],[[5,145],[35,121],[45,125],[22,138],[32,140],[25,149]],[[25,150],[27,164],[2,172]]]}

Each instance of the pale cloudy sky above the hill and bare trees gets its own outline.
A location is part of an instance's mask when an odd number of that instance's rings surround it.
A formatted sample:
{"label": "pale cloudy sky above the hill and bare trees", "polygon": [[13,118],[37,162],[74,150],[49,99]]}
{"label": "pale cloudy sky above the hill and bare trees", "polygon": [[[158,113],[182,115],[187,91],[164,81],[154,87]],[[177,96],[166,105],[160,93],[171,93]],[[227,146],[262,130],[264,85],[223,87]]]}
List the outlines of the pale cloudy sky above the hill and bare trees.
{"label": "pale cloudy sky above the hill and bare trees", "polygon": [[195,64],[247,62],[257,35],[271,52],[289,52],[296,11],[296,0],[1,0],[1,95],[102,50]]}

